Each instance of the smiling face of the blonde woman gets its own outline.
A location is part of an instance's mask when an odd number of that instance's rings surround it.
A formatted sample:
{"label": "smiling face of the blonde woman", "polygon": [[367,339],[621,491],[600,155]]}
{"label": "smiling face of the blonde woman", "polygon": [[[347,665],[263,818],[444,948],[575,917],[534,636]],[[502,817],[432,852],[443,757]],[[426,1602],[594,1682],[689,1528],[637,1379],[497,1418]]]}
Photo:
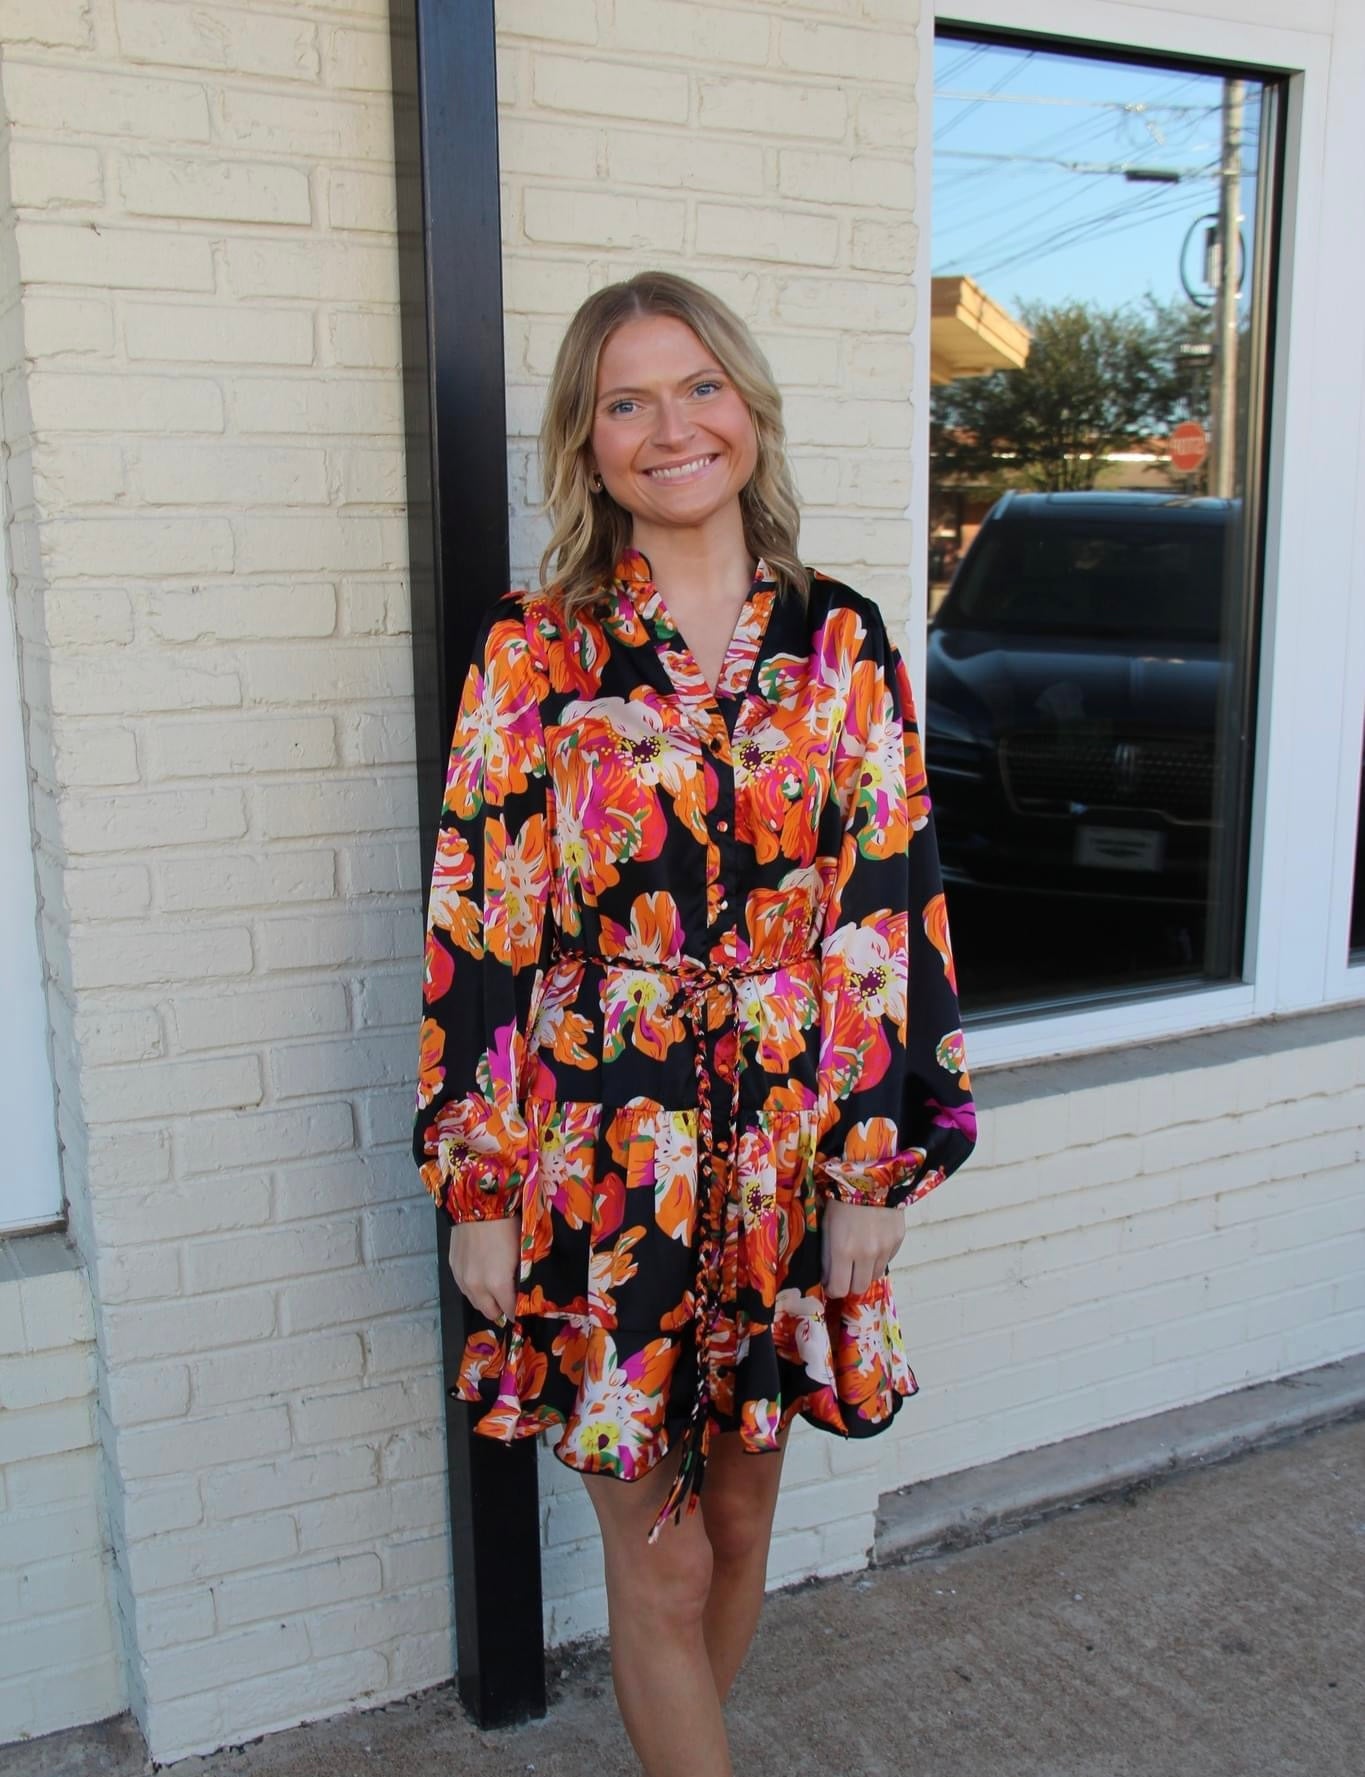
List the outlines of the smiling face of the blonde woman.
{"label": "smiling face of the blonde woman", "polygon": [[739,517],[739,492],[759,460],[748,403],[686,322],[624,322],[597,361],[592,462],[651,528],[706,528]]}

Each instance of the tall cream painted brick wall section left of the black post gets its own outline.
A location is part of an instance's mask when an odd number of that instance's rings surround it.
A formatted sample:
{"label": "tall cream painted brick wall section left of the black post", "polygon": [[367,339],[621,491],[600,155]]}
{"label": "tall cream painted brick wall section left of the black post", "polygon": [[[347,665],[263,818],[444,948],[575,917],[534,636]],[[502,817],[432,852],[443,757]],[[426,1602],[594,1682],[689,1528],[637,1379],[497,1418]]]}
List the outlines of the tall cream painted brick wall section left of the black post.
{"label": "tall cream painted brick wall section left of the black post", "polygon": [[[387,7],[4,0],[0,36],[59,1127],[169,1759],[450,1676]],[[92,1473],[89,1379],[27,1377],[21,1466],[80,1432]],[[87,1603],[43,1596],[69,1647],[34,1635],[50,1701],[0,1692],[0,1740],[123,1704],[112,1642],[71,1701]]]}

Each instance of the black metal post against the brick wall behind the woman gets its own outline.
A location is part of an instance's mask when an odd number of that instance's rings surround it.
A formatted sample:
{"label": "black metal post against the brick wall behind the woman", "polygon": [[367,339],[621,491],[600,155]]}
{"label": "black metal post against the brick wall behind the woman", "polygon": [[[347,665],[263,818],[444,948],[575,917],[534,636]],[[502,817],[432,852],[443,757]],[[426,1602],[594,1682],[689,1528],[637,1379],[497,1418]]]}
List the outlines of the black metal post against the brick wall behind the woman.
{"label": "black metal post against the brick wall behind the woman", "polygon": [[[508,585],[492,0],[391,0],[407,535],[423,878],[460,684]],[[446,1386],[464,1303],[439,1223]],[[446,1397],[460,1699],[482,1727],[546,1713],[535,1441],[473,1436]]]}

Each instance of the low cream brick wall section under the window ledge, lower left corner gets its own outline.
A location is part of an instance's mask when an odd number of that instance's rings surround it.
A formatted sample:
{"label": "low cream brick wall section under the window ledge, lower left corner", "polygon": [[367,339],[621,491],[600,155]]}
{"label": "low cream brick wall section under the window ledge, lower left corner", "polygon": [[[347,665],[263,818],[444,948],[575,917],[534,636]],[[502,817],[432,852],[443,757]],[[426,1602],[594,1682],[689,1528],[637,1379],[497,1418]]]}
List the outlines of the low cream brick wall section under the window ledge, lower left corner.
{"label": "low cream brick wall section under the window ledge, lower left corner", "polygon": [[0,1745],[124,1708],[94,1404],[75,1256],[0,1247]]}

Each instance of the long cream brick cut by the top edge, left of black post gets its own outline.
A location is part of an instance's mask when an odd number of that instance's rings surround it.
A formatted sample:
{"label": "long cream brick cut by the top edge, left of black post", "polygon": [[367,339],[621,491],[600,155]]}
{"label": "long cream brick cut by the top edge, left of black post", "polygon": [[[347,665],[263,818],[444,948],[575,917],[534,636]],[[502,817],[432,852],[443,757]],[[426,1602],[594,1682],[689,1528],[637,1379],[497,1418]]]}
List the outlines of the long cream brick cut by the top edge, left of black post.
{"label": "long cream brick cut by the top edge, left of black post", "polygon": [[256,7],[185,7],[117,0],[119,48],[130,62],[222,68],[233,75],[316,80],[316,27]]}

